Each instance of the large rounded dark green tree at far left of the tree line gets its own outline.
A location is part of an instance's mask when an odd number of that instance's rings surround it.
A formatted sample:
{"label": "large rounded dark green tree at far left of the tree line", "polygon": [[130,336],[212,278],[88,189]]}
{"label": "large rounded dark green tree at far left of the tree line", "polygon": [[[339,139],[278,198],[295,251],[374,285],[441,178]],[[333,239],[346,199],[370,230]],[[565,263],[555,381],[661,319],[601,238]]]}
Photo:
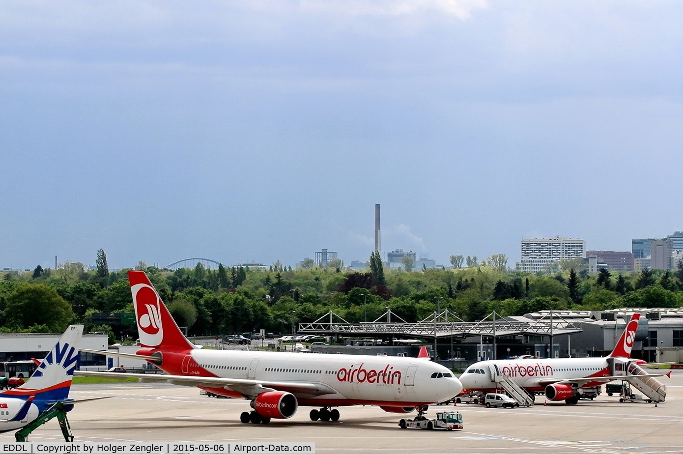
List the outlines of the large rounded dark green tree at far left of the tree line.
{"label": "large rounded dark green tree at far left of the tree line", "polygon": [[73,313],[57,291],[44,284],[20,283],[7,298],[6,323],[12,328],[46,325],[52,332],[63,332]]}

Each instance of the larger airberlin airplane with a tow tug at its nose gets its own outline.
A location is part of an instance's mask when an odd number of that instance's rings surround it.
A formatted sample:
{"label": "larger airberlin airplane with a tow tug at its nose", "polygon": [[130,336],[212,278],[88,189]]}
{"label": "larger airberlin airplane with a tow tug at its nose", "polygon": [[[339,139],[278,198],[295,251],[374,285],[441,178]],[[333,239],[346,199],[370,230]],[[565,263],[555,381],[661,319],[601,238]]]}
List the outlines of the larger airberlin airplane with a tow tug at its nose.
{"label": "larger airberlin airplane with a tow tug at its nose", "polygon": [[79,375],[167,380],[217,395],[243,397],[251,400],[253,411],[242,412],[242,423],[290,418],[300,405],[320,407],[311,410],[313,421],[337,421],[339,410],[330,408],[350,405],[421,412],[424,406],[462,391],[460,380],[449,369],[417,358],[199,349],[182,335],[144,272],[129,271],[128,279],[142,347],[133,357],[145,358],[169,375]]}

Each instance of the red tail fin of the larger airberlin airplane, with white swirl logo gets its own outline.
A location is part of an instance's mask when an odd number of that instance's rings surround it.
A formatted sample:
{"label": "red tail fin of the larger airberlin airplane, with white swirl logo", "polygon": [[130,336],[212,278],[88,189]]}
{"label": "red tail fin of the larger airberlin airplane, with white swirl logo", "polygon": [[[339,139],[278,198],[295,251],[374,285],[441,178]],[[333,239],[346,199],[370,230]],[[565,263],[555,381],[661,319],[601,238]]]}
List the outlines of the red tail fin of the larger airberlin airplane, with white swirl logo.
{"label": "red tail fin of the larger airberlin airplane, with white swirl logo", "polygon": [[143,271],[128,271],[128,280],[133,294],[140,345],[173,352],[196,348],[178,328],[147,274]]}

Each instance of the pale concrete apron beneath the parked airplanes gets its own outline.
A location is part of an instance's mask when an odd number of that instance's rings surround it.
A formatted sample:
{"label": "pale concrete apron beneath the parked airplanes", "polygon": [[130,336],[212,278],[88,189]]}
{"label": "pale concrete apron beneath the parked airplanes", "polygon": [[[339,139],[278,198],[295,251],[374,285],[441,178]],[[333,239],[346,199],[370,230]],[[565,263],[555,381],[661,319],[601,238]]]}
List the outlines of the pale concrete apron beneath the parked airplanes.
{"label": "pale concrete apron beneath the parked airplanes", "polygon": [[[199,395],[197,388],[168,384],[74,385],[71,397],[116,396],[82,403],[69,413],[76,441],[315,442],[330,454],[467,453],[683,453],[683,370],[672,371],[667,401],[619,403],[604,392],[576,406],[538,397],[531,408],[485,408],[474,404],[434,406],[458,410],[462,431],[400,429],[400,414],[375,407],[339,408],[337,423],[310,421],[309,407],[269,425],[242,424],[249,402]],[[410,416],[410,415],[408,415]],[[403,416],[405,417],[405,416]],[[0,441],[14,434],[0,435]],[[31,434],[31,441],[63,441],[56,421]]]}

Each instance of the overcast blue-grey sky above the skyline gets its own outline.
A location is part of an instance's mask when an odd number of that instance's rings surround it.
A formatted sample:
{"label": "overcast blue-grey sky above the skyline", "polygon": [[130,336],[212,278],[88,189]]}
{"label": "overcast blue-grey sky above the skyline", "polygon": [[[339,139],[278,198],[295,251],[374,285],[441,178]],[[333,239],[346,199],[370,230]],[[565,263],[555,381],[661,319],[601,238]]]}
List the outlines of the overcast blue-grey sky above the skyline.
{"label": "overcast blue-grey sky above the skyline", "polygon": [[0,2],[0,268],[683,230],[680,1]]}

